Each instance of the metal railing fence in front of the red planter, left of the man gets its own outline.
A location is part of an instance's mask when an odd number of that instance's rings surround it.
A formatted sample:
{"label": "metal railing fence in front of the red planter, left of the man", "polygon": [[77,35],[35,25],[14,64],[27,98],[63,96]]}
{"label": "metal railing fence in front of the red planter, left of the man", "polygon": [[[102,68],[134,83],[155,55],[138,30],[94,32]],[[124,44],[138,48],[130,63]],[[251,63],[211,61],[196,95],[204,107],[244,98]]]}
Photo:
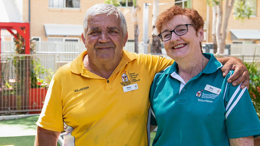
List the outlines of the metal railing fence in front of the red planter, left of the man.
{"label": "metal railing fence in front of the red planter, left of the man", "polygon": [[53,64],[53,59],[47,60],[46,55],[0,57],[0,114],[41,111],[53,75],[44,65]]}

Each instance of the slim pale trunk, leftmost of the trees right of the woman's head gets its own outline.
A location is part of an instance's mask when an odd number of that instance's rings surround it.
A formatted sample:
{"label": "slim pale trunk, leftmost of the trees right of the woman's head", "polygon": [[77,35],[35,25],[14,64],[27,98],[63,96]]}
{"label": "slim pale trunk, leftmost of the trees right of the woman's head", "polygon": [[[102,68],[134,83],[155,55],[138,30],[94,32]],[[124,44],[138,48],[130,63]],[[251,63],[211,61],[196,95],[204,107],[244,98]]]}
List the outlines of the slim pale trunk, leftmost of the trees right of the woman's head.
{"label": "slim pale trunk, leftmost of the trees right of the woman's head", "polygon": [[212,39],[213,39],[213,52],[217,53],[217,39],[216,39],[216,25],[217,25],[217,6],[216,3],[212,6]]}

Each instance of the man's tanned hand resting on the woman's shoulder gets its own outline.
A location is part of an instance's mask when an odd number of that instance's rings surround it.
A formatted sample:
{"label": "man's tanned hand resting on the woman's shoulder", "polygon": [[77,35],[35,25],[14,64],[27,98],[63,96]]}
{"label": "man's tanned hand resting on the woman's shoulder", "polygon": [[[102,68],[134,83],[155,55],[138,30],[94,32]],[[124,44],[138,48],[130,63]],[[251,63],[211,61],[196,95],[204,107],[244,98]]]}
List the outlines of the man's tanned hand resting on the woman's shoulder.
{"label": "man's tanned hand resting on the woman's shoulder", "polygon": [[240,88],[249,87],[249,72],[244,63],[236,57],[218,57],[217,60],[224,64],[222,67],[223,76],[228,74],[229,70],[234,70],[234,73],[228,78],[228,82],[233,86],[241,84]]}

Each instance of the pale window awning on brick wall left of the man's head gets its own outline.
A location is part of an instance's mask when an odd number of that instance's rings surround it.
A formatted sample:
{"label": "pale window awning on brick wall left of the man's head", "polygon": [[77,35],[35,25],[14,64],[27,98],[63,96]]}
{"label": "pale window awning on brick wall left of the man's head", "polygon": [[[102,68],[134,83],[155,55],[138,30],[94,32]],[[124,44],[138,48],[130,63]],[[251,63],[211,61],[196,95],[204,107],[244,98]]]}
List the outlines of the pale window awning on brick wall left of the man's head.
{"label": "pale window awning on brick wall left of the man's head", "polygon": [[46,36],[81,36],[82,25],[44,24]]}

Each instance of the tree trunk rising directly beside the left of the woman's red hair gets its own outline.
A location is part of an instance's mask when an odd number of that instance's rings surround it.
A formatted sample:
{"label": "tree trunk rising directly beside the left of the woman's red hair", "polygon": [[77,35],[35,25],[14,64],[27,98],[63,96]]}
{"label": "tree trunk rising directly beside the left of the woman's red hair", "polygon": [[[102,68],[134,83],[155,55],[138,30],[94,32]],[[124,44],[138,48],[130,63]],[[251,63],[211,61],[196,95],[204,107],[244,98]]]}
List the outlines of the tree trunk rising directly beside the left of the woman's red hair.
{"label": "tree trunk rising directly beside the left of the woman's red hair", "polygon": [[161,51],[161,42],[157,34],[157,29],[155,27],[155,19],[157,18],[159,14],[159,0],[153,0],[153,18],[152,18],[152,53],[162,53]]}

